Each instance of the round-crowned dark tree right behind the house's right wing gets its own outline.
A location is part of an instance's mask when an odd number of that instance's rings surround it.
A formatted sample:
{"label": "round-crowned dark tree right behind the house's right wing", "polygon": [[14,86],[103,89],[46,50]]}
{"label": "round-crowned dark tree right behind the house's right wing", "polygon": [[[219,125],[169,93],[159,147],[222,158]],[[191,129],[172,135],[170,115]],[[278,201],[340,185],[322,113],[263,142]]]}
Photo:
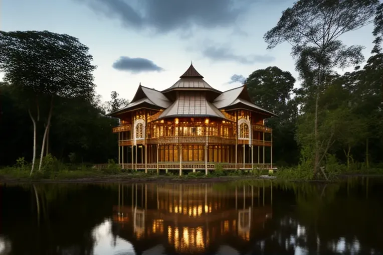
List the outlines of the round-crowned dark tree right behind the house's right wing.
{"label": "round-crowned dark tree right behind the house's right wing", "polygon": [[298,146],[294,139],[298,108],[291,98],[295,78],[276,66],[254,71],[246,79],[253,101],[278,115],[267,119],[273,129],[274,155],[280,164],[296,164]]}

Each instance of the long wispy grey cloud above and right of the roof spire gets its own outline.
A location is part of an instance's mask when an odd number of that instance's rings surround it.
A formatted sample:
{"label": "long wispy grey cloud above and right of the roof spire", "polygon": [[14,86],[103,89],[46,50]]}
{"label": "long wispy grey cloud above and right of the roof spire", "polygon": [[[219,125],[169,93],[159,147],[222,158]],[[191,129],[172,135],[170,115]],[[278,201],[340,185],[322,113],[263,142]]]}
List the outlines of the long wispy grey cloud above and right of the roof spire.
{"label": "long wispy grey cloud above and right of the roof spire", "polygon": [[269,55],[236,55],[230,47],[208,46],[202,51],[205,57],[219,61],[235,61],[241,64],[268,63],[274,61]]}

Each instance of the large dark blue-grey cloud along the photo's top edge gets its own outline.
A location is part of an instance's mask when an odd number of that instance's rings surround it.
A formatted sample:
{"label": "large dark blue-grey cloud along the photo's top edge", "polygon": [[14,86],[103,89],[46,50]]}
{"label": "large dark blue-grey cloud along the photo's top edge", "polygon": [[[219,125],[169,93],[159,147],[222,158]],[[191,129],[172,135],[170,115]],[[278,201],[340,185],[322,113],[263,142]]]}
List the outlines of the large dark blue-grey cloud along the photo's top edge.
{"label": "large dark blue-grey cloud along the photo's top edge", "polygon": [[158,33],[232,27],[254,0],[75,0],[128,28]]}

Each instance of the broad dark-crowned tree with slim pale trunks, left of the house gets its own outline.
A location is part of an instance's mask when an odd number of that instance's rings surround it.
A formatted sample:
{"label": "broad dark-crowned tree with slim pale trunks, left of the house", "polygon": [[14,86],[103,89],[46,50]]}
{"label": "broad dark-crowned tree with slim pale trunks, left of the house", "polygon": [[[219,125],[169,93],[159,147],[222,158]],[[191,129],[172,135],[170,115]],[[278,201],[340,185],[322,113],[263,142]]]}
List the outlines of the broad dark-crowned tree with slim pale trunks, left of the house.
{"label": "broad dark-crowned tree with slim pale trunks, left of the house", "polygon": [[[37,121],[40,120],[40,103],[47,105],[39,170],[49,131],[54,98],[82,97],[88,100],[94,95],[91,64],[93,57],[88,47],[75,37],[49,31],[0,31],[0,70],[4,80],[21,93],[34,126],[34,149],[31,174],[36,159]],[[36,117],[32,108],[36,107]]]}

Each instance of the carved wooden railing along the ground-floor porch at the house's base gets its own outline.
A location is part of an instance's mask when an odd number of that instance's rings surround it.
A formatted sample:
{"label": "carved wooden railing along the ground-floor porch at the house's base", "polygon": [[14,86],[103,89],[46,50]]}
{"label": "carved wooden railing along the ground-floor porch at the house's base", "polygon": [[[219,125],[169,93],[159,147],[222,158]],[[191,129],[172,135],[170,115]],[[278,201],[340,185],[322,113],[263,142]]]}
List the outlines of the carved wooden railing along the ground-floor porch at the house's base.
{"label": "carved wooden railing along the ground-floor porch at the house's base", "polygon": [[[224,170],[236,170],[236,164],[233,163],[218,163],[222,166]],[[120,164],[121,168],[123,169],[131,169],[132,163],[127,164]],[[216,168],[216,163],[208,163],[208,169],[214,170]],[[262,168],[262,169],[270,169],[270,164],[253,164],[254,168]],[[94,169],[105,169],[108,167],[108,164],[97,164],[94,165]],[[145,164],[133,164],[133,168],[136,170],[144,170]],[[157,164],[146,164],[147,170],[156,170]],[[179,169],[179,162],[159,162],[158,163],[158,169],[159,170],[172,170],[172,169]],[[183,170],[205,170],[205,163],[204,162],[189,162],[189,163],[181,163],[181,169]],[[242,170],[249,170],[252,169],[252,164],[246,163],[245,166],[243,163],[237,163],[237,169]]]}

